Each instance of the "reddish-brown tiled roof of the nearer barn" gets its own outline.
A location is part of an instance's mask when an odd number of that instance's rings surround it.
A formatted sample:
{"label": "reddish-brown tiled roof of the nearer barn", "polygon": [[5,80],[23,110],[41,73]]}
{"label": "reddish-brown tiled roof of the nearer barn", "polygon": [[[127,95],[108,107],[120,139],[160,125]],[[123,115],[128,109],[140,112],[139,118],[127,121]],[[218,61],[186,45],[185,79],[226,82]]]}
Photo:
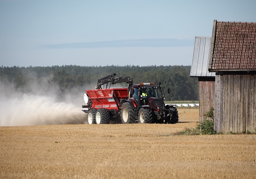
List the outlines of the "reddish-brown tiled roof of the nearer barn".
{"label": "reddish-brown tiled roof of the nearer barn", "polygon": [[256,23],[217,22],[212,32],[209,71],[256,71]]}

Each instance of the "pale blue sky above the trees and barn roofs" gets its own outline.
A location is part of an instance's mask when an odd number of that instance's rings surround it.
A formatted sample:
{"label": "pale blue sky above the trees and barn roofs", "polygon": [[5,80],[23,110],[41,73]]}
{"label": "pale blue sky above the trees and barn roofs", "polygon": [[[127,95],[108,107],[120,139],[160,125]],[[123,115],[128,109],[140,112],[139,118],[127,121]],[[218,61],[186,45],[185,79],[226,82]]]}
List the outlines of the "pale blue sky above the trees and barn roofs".
{"label": "pale blue sky above the trees and barn roofs", "polygon": [[191,65],[213,21],[256,22],[255,0],[0,0],[0,66]]}

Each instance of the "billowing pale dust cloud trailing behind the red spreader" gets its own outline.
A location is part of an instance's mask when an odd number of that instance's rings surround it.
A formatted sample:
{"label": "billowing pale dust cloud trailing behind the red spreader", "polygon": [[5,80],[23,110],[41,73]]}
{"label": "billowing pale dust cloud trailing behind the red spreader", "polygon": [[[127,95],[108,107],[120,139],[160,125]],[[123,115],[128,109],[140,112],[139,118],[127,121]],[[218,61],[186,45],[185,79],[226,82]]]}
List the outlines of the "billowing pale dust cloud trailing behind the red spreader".
{"label": "billowing pale dust cloud trailing behind the red spreader", "polygon": [[0,126],[79,124],[86,121],[86,114],[81,111],[83,89],[61,94],[58,86],[44,80],[29,84],[29,90],[13,86],[0,81]]}

